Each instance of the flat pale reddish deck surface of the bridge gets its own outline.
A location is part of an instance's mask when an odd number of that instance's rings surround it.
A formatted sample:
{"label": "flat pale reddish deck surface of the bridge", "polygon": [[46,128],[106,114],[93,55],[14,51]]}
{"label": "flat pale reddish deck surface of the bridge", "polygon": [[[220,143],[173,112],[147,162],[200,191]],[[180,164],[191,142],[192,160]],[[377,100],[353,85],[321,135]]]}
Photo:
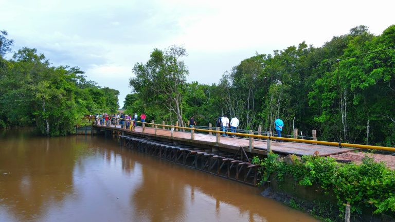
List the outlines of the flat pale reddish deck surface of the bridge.
{"label": "flat pale reddish deck surface of the bridge", "polygon": [[[95,125],[100,128],[111,128],[114,129],[114,125],[112,126],[100,126]],[[120,126],[116,127],[116,130],[127,132],[128,134],[135,135],[145,135],[151,137],[162,137],[162,138],[170,138],[171,139],[171,131],[163,130],[161,128],[157,129],[155,135],[155,128],[145,127],[145,132],[142,133],[142,127],[136,126],[135,131],[125,130],[120,128]],[[220,143],[216,142],[216,135],[208,135],[208,134],[200,134],[195,133],[194,140],[191,139],[190,132],[173,132],[173,140],[179,141],[187,141],[193,142],[197,144],[207,144],[218,147],[223,147],[231,150],[239,150],[240,147],[248,147],[249,140],[244,138],[236,138],[236,137],[220,137]],[[324,146],[317,144],[307,144],[307,143],[297,143],[297,142],[271,142],[271,149],[275,153],[279,154],[295,154],[297,156],[302,155],[313,155],[315,151],[318,151],[319,156],[329,156],[335,154],[342,154],[353,151],[354,149],[348,148],[340,148],[333,146]],[[254,140],[254,149],[247,149],[246,152],[256,153],[256,154],[267,154],[267,143],[266,140]]]}

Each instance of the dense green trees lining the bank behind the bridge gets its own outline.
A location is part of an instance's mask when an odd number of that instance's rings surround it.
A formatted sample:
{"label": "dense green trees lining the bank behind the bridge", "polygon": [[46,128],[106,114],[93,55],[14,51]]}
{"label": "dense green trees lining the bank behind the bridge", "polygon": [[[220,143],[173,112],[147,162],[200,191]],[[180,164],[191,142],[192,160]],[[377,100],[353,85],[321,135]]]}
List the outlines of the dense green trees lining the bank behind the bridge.
{"label": "dense green trees lining the bank behind the bridge", "polygon": [[123,108],[172,124],[194,116],[204,126],[226,114],[237,116],[240,128],[263,131],[274,131],[278,115],[284,134],[295,127],[303,136],[317,130],[319,140],[394,146],[393,47],[395,25],[377,36],[358,26],[322,47],[302,42],[257,53],[212,85],[186,82],[184,48],[155,49],[147,63],[135,65],[134,94]]}

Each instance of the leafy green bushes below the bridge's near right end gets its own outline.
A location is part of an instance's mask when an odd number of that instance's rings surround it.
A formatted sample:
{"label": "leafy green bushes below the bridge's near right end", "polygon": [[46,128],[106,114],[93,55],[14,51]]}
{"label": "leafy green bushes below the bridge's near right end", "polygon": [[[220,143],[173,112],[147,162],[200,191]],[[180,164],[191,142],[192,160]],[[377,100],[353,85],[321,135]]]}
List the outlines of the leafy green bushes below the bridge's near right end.
{"label": "leafy green bushes below the bridge's near right end", "polygon": [[299,186],[316,185],[325,195],[332,195],[337,201],[339,218],[343,218],[347,202],[354,216],[366,214],[364,211],[369,209],[374,214],[395,216],[395,171],[368,155],[361,165],[319,156],[303,156],[286,163],[273,153],[262,160],[254,157],[252,162],[261,164],[261,182],[276,179],[281,186],[288,176]]}

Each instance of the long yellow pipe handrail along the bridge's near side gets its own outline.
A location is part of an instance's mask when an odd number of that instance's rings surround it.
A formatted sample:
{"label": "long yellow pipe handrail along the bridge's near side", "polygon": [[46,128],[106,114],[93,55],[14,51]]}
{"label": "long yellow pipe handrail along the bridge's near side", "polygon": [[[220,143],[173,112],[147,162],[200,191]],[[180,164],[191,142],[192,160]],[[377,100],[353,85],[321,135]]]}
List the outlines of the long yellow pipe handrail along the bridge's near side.
{"label": "long yellow pipe handrail along the bridge's near side", "polygon": [[[105,118],[105,117],[102,117]],[[110,117],[109,117],[110,118]],[[116,118],[116,117],[111,117]],[[88,118],[84,117],[83,119],[96,119],[96,117]],[[116,118],[121,120],[127,120],[123,118]],[[127,120],[132,121],[132,120]],[[164,126],[164,127],[173,127],[173,128],[180,128],[185,130],[194,130],[200,132],[211,132],[211,133],[225,133],[229,135],[237,135],[237,136],[244,136],[244,137],[254,137],[254,138],[262,138],[262,139],[275,139],[275,140],[285,140],[285,141],[292,141],[292,142],[303,142],[303,143],[314,143],[314,144],[321,144],[321,145],[330,145],[330,146],[339,146],[339,147],[350,147],[350,148],[358,148],[358,149],[367,149],[367,150],[384,150],[384,151],[391,151],[395,152],[395,148],[387,147],[387,146],[374,146],[374,145],[362,145],[362,144],[353,144],[353,143],[338,143],[338,142],[328,142],[328,141],[320,141],[320,140],[306,140],[306,139],[294,139],[294,138],[285,138],[285,137],[275,137],[275,136],[263,136],[263,135],[255,135],[255,134],[244,134],[244,133],[231,133],[231,132],[223,132],[223,131],[216,131],[216,130],[204,130],[200,128],[190,128],[190,127],[183,127],[183,126],[172,126],[172,125],[163,125],[163,124],[156,124],[156,123],[148,123],[148,122],[141,122],[136,121],[138,123],[145,123],[152,126]]]}

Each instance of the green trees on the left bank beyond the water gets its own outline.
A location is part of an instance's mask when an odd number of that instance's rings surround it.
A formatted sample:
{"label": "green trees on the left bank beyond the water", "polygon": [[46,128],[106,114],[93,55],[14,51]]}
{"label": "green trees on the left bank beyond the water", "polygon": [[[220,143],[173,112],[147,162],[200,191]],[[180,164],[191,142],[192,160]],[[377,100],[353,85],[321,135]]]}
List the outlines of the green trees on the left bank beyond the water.
{"label": "green trees on the left bank beyond the water", "polygon": [[6,35],[0,33],[0,128],[35,126],[45,135],[67,135],[84,115],[117,112],[119,91],[87,81],[78,67],[50,66],[30,48],[5,60],[12,45]]}

